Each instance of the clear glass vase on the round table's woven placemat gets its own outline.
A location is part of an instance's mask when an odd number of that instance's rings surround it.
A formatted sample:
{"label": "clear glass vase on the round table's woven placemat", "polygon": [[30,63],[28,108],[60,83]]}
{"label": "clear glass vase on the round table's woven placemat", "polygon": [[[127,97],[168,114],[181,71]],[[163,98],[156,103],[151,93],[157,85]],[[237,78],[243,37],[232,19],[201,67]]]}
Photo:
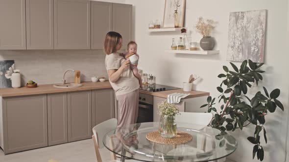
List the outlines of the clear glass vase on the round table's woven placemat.
{"label": "clear glass vase on the round table's woven placemat", "polygon": [[159,133],[164,138],[173,138],[177,135],[177,123],[175,116],[162,115],[159,125]]}

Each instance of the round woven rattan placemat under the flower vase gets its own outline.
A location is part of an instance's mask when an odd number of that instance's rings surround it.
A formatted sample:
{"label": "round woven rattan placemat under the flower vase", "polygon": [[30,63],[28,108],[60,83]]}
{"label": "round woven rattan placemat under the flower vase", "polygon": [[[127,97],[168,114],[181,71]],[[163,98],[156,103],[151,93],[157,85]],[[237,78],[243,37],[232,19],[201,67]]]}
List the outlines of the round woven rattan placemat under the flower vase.
{"label": "round woven rattan placemat under the flower vase", "polygon": [[173,138],[164,138],[158,131],[150,132],[146,134],[146,139],[150,142],[156,142],[161,144],[182,144],[189,142],[193,137],[185,132],[177,132],[177,136]]}

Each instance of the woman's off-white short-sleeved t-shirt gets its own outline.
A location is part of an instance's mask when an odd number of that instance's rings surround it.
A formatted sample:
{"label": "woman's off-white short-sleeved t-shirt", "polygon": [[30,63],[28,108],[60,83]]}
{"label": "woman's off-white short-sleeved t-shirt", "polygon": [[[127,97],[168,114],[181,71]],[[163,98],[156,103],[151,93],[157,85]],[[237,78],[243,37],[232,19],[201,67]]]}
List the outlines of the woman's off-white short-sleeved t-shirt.
{"label": "woman's off-white short-sleeved t-shirt", "polygon": [[[112,53],[110,55],[105,56],[105,67],[106,70],[119,69],[122,62],[124,62],[124,57],[120,56],[120,54]],[[112,88],[115,90],[116,95],[124,95],[130,93],[140,87],[138,79],[133,75],[133,72],[130,68],[126,69],[120,75],[120,78],[116,82],[111,82],[109,80]]]}

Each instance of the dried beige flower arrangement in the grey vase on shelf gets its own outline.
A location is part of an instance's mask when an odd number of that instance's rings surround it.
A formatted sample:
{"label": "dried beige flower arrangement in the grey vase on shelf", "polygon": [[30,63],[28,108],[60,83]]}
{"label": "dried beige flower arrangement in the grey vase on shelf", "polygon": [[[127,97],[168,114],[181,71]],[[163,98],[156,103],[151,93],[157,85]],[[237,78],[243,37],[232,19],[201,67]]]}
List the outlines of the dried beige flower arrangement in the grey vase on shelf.
{"label": "dried beige flower arrangement in the grey vase on shelf", "polygon": [[199,17],[195,24],[196,32],[201,34],[203,37],[211,36],[211,32],[216,27],[217,22],[211,19],[207,19],[205,22],[203,17]]}

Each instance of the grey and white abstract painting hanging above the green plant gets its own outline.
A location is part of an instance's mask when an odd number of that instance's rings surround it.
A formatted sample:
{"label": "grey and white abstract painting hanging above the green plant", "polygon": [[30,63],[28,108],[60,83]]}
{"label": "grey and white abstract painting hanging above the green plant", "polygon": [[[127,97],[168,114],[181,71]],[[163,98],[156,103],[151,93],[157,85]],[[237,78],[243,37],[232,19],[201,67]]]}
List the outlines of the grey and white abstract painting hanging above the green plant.
{"label": "grey and white abstract painting hanging above the green plant", "polygon": [[232,12],[227,61],[264,62],[267,10]]}

